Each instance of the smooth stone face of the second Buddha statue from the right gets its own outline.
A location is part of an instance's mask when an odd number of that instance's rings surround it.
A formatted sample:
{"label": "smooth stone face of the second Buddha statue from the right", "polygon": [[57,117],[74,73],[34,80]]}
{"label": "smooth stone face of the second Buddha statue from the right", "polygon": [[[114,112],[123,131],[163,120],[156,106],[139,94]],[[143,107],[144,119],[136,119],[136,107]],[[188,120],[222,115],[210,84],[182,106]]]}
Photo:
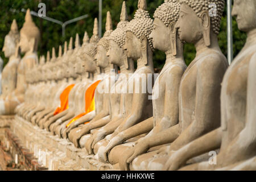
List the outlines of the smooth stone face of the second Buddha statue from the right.
{"label": "smooth stone face of the second Buddha statue from the right", "polygon": [[180,6],[180,16],[176,23],[177,32],[181,41],[195,44],[203,38],[203,25],[195,11],[183,3]]}

